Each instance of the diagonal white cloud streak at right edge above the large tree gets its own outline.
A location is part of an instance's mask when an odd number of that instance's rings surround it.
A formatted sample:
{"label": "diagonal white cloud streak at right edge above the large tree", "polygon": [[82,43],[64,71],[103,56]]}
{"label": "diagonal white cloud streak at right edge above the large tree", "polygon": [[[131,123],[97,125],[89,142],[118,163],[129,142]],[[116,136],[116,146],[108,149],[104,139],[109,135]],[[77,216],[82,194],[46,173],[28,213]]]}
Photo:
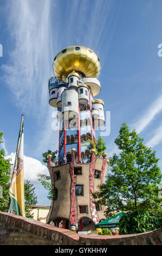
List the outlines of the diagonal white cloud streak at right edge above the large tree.
{"label": "diagonal white cloud streak at right edge above the large tree", "polygon": [[131,125],[132,128],[136,129],[138,133],[143,131],[162,111],[162,95],[155,100],[152,105],[144,111],[138,121]]}

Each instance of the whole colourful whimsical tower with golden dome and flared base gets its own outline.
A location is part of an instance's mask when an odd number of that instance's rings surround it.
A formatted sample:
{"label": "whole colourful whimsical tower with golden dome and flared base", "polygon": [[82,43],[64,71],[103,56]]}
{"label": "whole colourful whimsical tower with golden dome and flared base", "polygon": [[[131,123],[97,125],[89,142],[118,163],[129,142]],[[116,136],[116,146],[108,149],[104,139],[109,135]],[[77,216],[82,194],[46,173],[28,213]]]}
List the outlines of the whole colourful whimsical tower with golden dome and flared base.
{"label": "whole colourful whimsical tower with golden dome and flared base", "polygon": [[[96,97],[101,84],[99,58],[90,48],[69,46],[53,61],[54,77],[49,79],[49,105],[57,108],[59,157],[48,169],[55,190],[47,222],[78,231],[94,229],[104,217],[104,207],[96,208],[91,192],[105,182],[107,154],[96,157],[96,130],[104,125],[104,102]],[[63,158],[66,156],[66,163]]]}

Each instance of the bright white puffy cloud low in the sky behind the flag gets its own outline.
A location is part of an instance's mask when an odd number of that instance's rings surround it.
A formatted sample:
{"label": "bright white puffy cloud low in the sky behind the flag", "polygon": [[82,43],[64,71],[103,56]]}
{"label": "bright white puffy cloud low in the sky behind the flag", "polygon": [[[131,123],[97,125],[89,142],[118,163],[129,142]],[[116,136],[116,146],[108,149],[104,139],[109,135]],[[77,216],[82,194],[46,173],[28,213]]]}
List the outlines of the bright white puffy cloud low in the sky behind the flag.
{"label": "bright white puffy cloud low in the sky behind the flag", "polygon": [[[11,153],[6,156],[5,159],[11,158],[11,163],[14,164],[15,154],[16,153]],[[37,181],[38,177],[36,175],[38,173],[49,176],[48,168],[44,164],[32,157],[24,156],[24,180]]]}

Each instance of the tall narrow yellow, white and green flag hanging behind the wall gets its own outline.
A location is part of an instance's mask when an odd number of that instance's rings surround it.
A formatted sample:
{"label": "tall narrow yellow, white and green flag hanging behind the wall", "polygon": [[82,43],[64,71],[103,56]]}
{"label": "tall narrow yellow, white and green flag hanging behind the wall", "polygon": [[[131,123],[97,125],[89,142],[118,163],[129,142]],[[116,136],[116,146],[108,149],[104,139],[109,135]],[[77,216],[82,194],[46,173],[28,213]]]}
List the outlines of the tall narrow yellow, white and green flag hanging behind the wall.
{"label": "tall narrow yellow, white and green flag hanging behind the wall", "polygon": [[9,212],[15,212],[17,215],[25,217],[24,211],[24,175],[23,175],[23,118],[22,115],[20,132],[18,136],[15,164],[13,176],[11,178],[11,185],[9,190],[10,206]]}

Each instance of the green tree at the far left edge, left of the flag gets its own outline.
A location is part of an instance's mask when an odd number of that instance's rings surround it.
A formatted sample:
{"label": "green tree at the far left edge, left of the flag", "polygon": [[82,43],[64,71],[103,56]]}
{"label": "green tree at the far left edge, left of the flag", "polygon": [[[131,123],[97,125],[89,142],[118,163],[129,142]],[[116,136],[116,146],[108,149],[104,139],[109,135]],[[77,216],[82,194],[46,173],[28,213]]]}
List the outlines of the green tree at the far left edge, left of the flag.
{"label": "green tree at the far left edge, left of the flag", "polygon": [[[3,143],[3,132],[0,132],[0,144]],[[0,211],[7,212],[9,205],[10,187],[10,159],[4,159],[4,149],[0,150],[0,186],[2,194],[0,196]]]}

